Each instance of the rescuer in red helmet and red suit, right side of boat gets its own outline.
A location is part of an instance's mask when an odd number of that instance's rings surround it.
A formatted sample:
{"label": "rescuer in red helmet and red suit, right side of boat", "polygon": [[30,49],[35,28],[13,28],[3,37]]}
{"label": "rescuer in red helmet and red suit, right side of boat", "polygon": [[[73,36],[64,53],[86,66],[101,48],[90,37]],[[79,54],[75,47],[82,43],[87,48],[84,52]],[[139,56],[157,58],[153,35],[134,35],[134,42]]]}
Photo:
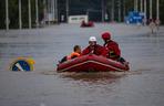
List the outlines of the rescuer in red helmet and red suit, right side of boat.
{"label": "rescuer in red helmet and red suit, right side of boat", "polygon": [[102,39],[104,41],[104,47],[107,50],[107,59],[119,61],[123,64],[129,64],[123,57],[121,57],[121,50],[119,47],[119,44],[115,41],[111,40],[110,32],[102,33]]}

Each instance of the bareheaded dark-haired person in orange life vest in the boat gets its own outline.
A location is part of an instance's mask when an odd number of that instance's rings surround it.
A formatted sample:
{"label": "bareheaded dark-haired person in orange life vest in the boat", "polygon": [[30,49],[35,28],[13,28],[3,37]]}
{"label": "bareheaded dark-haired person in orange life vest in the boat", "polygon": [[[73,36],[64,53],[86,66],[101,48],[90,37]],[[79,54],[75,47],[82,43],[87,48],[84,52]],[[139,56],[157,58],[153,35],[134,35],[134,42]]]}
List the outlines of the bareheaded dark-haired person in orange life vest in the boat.
{"label": "bareheaded dark-haired person in orange life vest in the boat", "polygon": [[60,61],[60,63],[63,63],[63,62],[65,62],[68,60],[72,60],[72,59],[79,57],[80,55],[81,55],[81,46],[80,45],[74,45],[73,52],[70,55],[64,56]]}

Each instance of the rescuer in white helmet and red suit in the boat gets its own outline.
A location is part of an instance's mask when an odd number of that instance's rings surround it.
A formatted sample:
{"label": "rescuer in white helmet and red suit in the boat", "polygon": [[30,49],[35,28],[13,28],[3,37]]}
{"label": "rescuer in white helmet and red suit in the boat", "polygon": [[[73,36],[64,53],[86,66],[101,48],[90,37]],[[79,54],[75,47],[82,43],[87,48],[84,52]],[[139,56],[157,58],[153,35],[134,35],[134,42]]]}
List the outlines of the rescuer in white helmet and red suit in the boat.
{"label": "rescuer in white helmet and red suit in the boat", "polygon": [[86,55],[86,54],[95,54],[95,55],[106,56],[106,50],[104,46],[96,44],[95,36],[90,36],[89,46],[86,46],[82,51],[82,55]]}

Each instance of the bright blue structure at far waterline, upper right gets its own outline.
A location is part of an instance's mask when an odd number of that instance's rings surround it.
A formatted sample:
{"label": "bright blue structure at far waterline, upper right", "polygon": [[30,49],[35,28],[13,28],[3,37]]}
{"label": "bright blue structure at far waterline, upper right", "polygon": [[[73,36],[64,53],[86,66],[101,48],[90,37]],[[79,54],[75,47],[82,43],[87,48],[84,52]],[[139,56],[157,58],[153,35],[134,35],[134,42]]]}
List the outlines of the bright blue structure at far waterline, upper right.
{"label": "bright blue structure at far waterline, upper right", "polygon": [[143,23],[143,12],[130,11],[129,15],[125,18],[125,22],[131,24]]}

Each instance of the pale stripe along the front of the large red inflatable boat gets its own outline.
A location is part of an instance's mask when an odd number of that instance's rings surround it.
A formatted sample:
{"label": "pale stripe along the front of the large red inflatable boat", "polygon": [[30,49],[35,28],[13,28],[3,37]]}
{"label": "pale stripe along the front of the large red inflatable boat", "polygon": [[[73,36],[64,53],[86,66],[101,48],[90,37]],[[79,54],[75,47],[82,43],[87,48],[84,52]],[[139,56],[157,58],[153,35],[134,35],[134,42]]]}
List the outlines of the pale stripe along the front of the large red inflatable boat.
{"label": "pale stripe along the front of the large red inflatable boat", "polygon": [[69,66],[69,67],[63,68],[63,70],[59,70],[59,72],[65,72],[66,70],[70,70],[70,68],[76,67],[76,66],[79,66],[79,65],[82,65],[82,64],[85,64],[85,63],[89,63],[89,62],[93,62],[93,63],[96,63],[96,64],[100,64],[100,65],[104,65],[104,66],[107,66],[107,67],[112,67],[112,68],[114,68],[114,70],[116,70],[116,71],[120,71],[120,72],[125,71],[125,70],[121,70],[121,68],[114,67],[114,66],[112,66],[112,65],[110,65],[110,64],[107,65],[107,64],[103,64],[103,63],[95,62],[95,61],[86,61],[86,62],[82,62],[82,63],[79,63],[79,64],[75,64],[75,65]]}

